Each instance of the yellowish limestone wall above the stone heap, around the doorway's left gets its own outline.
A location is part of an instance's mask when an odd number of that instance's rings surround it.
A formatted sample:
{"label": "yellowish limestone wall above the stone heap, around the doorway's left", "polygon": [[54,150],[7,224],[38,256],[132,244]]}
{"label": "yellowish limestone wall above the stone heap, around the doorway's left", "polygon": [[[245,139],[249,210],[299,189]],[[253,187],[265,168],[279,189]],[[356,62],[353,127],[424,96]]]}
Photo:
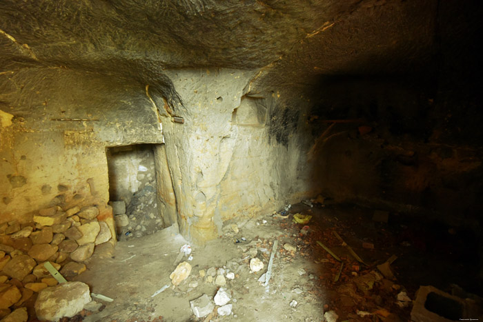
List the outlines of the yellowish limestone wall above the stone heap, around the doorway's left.
{"label": "yellowish limestone wall above the stone heap, around the doorway's left", "polygon": [[[46,68],[0,75],[0,223],[32,222],[43,208],[107,206],[106,147],[161,143],[144,88],[110,77]],[[2,117],[5,119],[5,117]]]}

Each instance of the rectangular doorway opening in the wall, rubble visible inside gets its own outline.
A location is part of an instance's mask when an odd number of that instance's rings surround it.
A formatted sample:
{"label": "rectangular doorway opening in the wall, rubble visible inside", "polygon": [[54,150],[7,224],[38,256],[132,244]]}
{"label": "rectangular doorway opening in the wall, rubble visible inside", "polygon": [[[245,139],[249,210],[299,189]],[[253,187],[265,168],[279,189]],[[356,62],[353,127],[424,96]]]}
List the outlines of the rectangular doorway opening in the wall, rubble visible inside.
{"label": "rectangular doorway opening in the wall, rubble visible inside", "polygon": [[125,145],[106,151],[110,205],[117,239],[139,238],[164,228],[157,204],[155,144]]}

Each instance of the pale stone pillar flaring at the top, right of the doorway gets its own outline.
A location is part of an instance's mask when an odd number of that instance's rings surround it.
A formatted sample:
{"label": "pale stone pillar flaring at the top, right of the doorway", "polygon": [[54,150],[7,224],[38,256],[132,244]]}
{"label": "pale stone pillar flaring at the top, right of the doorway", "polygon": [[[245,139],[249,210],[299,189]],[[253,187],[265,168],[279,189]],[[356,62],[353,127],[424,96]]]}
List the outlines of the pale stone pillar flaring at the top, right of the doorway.
{"label": "pale stone pillar flaring at the top, right of the doorway", "polygon": [[[220,234],[220,183],[228,172],[237,128],[232,113],[253,73],[243,70],[168,71],[182,103],[161,108],[181,234],[203,243]],[[175,123],[172,116],[183,117]]]}

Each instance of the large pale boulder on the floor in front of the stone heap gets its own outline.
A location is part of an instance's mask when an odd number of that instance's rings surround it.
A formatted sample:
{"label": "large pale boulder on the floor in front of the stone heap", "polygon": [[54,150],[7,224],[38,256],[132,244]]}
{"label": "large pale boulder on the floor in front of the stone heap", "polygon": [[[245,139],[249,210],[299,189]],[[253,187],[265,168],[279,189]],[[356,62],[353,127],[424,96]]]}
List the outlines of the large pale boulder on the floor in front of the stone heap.
{"label": "large pale boulder on the floor in front of the stone heap", "polygon": [[87,284],[67,282],[41,290],[34,308],[38,319],[58,321],[64,316],[75,316],[90,301]]}

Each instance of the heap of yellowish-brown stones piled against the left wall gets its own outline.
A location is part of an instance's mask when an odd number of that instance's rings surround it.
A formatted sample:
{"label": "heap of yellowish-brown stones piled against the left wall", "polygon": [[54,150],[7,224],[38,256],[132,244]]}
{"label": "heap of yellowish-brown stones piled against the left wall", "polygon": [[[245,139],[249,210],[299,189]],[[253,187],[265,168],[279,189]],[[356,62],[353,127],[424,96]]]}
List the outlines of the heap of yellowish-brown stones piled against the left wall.
{"label": "heap of yellowish-brown stones piled against the left wall", "polygon": [[94,252],[112,252],[111,230],[98,215],[95,205],[56,205],[34,214],[32,223],[0,225],[0,319],[27,321],[39,292],[59,283],[46,263],[72,277],[86,270]]}

